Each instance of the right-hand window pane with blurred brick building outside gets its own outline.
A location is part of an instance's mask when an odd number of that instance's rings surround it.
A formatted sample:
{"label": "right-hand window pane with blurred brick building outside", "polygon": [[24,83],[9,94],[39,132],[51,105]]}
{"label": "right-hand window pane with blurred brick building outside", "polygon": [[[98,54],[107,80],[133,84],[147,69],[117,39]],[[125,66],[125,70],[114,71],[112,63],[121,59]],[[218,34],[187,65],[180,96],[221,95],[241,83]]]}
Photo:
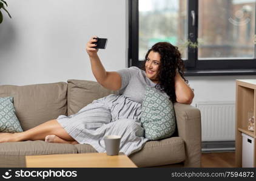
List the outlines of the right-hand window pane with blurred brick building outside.
{"label": "right-hand window pane with blurred brick building outside", "polygon": [[254,59],[255,0],[198,2],[198,59]]}

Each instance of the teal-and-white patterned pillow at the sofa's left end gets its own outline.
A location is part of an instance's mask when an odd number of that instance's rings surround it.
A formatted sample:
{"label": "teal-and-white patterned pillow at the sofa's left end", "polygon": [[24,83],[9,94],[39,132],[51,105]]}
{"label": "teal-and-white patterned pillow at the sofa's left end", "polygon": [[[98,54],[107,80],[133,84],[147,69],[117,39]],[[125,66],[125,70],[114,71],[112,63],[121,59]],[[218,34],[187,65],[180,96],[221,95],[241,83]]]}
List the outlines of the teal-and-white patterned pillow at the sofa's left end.
{"label": "teal-and-white patterned pillow at the sofa's left end", "polygon": [[0,97],[0,132],[23,132],[15,115],[13,97]]}

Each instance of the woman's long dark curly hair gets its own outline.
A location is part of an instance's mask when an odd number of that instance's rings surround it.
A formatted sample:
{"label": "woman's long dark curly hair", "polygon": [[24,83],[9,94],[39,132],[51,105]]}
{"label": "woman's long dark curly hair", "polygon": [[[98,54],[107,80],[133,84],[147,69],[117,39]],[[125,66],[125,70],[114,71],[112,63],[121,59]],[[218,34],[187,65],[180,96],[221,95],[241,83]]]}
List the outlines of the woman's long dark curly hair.
{"label": "woman's long dark curly hair", "polygon": [[158,52],[161,57],[160,67],[157,74],[158,83],[155,87],[166,92],[172,103],[175,103],[175,75],[177,69],[184,81],[188,83],[186,78],[184,78],[184,62],[181,59],[180,51],[178,51],[177,46],[173,46],[168,42],[156,43],[149,49],[149,51],[147,51],[142,68],[144,71],[146,70],[145,63],[150,51]]}

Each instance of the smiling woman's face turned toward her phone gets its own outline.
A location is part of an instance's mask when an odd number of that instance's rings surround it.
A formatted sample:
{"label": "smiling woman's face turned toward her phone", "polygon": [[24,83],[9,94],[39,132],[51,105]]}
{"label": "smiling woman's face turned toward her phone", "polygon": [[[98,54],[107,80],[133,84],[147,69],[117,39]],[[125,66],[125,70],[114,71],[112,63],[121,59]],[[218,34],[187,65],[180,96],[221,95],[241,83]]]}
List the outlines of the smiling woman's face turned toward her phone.
{"label": "smiling woman's face turned toward her phone", "polygon": [[157,73],[160,67],[161,57],[158,52],[150,51],[145,63],[146,76],[154,83],[157,83]]}

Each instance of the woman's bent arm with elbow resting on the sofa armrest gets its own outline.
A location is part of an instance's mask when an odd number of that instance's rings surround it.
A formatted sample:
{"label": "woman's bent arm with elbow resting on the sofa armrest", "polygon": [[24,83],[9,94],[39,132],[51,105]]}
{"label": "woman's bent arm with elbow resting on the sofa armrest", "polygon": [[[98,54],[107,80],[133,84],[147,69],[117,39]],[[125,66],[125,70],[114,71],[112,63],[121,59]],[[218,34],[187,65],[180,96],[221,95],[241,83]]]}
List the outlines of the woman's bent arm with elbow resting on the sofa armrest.
{"label": "woman's bent arm with elbow resting on the sofa armrest", "polygon": [[191,104],[194,98],[193,90],[187,85],[179,72],[175,75],[176,101],[181,104]]}

